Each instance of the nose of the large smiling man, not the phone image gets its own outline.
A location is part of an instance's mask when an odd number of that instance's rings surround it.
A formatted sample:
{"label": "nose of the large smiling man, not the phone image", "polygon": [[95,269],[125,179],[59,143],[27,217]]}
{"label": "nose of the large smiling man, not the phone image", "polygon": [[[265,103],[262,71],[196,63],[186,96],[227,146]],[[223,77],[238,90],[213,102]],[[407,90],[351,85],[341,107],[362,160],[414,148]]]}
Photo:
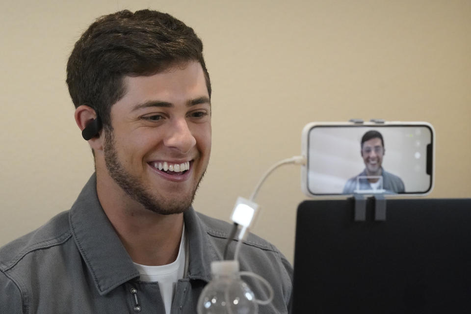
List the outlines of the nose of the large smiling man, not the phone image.
{"label": "nose of the large smiling man, not the phone image", "polygon": [[188,151],[196,145],[196,139],[188,128],[185,119],[176,119],[172,121],[164,139],[164,145],[175,148],[181,153]]}

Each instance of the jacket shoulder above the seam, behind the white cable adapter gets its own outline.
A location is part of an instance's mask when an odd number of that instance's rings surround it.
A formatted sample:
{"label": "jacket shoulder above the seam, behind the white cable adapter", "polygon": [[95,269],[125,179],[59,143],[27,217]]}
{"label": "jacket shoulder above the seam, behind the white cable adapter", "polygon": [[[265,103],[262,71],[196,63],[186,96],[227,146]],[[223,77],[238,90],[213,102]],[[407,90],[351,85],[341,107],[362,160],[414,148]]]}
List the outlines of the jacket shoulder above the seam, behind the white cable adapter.
{"label": "jacket shoulder above the seam, behind the white cable adapter", "polygon": [[[204,223],[208,235],[221,239],[227,239],[229,237],[231,229],[233,228],[232,224],[224,220],[209,217],[208,215],[202,214],[200,212],[197,212],[196,214]],[[253,233],[249,233],[247,239],[244,240],[244,244],[261,250],[279,253],[278,249],[273,244]]]}

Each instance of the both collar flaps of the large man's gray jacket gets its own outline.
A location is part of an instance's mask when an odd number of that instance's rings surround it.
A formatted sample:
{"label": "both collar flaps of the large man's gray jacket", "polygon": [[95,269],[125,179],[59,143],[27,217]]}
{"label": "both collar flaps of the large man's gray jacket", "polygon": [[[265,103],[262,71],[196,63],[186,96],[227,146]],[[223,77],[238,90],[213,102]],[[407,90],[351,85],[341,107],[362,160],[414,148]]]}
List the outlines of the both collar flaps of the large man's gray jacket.
{"label": "both collar flaps of the large man's gray jacket", "polygon": [[[104,295],[139,277],[139,273],[100,205],[96,186],[97,177],[93,174],[72,206],[69,222],[83,261],[99,293]],[[209,265],[219,257],[194,209],[186,210],[183,217],[189,246],[188,278],[208,282]]]}

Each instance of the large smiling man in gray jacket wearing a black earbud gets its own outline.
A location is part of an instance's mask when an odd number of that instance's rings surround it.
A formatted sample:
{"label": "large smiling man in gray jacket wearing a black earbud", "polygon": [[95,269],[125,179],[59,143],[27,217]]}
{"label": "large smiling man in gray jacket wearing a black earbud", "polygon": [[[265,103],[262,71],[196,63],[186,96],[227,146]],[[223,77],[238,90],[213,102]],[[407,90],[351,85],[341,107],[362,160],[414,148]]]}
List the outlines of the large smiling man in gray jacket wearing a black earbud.
{"label": "large smiling man in gray jacket wearing a black earbud", "polygon": [[[211,87],[193,29],[157,11],[99,18],[67,64],[96,172],[68,211],[0,249],[1,313],[191,313],[231,225],[195,212],[211,150]],[[292,268],[249,235],[241,270],[288,313]],[[267,293],[249,281],[257,298]]]}

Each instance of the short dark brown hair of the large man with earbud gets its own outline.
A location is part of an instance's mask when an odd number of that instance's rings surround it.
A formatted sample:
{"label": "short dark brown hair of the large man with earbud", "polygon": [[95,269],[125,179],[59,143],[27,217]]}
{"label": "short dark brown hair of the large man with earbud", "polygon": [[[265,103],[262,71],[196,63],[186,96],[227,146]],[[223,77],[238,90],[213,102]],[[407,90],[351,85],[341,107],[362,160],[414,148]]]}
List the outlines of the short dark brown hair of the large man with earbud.
{"label": "short dark brown hair of the large man with earbud", "polygon": [[124,76],[150,76],[188,61],[201,64],[210,97],[203,43],[193,29],[166,13],[124,10],[98,18],[82,34],[66,81],[75,107],[89,105],[110,127],[111,105],[126,92]]}

